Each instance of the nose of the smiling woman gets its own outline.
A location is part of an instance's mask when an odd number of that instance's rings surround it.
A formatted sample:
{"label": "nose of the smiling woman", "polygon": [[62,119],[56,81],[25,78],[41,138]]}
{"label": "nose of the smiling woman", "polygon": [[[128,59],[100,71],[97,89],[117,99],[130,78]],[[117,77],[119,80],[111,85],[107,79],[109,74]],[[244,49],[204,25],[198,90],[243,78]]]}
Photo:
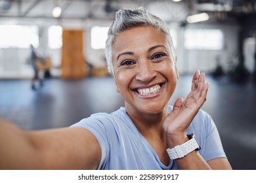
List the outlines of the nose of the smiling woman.
{"label": "nose of the smiling woman", "polygon": [[148,59],[140,61],[137,66],[137,75],[135,76],[136,80],[141,82],[150,82],[156,78],[156,71],[152,62]]}

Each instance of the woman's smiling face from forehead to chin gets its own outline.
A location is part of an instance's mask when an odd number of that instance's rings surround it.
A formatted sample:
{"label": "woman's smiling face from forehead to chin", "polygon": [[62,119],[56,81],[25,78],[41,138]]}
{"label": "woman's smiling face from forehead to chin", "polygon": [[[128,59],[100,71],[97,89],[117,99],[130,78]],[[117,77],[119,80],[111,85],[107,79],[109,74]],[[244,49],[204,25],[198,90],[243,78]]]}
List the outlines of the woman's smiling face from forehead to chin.
{"label": "woman's smiling face from forehead to chin", "polygon": [[157,114],[167,106],[178,78],[169,54],[165,35],[154,27],[133,27],[117,35],[114,78],[127,111]]}

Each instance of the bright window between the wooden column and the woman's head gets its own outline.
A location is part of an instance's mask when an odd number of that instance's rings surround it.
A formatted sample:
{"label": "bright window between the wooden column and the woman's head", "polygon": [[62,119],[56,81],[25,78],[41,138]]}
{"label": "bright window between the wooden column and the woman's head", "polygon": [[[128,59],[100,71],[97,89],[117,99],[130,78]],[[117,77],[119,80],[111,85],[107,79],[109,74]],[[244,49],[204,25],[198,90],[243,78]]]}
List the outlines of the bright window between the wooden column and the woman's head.
{"label": "bright window between the wooden column and the woman's head", "polygon": [[108,38],[109,27],[92,27],[91,29],[91,47],[95,50],[104,49],[106,39]]}

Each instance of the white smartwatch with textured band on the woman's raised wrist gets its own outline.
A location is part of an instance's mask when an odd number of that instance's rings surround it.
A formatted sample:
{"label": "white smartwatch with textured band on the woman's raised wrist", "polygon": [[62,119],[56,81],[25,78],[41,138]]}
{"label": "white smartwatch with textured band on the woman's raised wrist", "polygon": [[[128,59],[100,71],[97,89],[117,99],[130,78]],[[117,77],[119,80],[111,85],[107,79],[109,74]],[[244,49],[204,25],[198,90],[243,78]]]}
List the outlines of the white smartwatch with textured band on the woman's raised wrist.
{"label": "white smartwatch with textured band on the woman's raised wrist", "polygon": [[174,148],[167,148],[167,153],[170,157],[170,159],[177,159],[177,158],[183,158],[188,153],[194,151],[194,150],[200,150],[200,145],[198,144],[198,141],[196,140],[196,137],[194,134],[186,135],[189,139],[189,141],[184,142],[181,145],[177,145]]}

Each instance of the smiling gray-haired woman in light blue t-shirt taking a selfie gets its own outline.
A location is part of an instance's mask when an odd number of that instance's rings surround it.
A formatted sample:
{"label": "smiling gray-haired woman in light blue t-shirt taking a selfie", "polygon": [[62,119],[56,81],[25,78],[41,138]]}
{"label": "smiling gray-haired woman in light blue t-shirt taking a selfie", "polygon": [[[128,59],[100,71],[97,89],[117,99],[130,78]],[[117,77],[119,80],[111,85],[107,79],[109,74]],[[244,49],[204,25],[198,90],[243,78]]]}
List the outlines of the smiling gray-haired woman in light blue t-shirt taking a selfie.
{"label": "smiling gray-haired woman in light blue t-shirt taking a selfie", "polygon": [[167,104],[179,75],[160,18],[144,8],[119,10],[106,58],[125,107],[63,129],[21,131],[3,122],[2,169],[231,169],[213,120],[200,110],[205,75],[196,71],[188,97]]}

